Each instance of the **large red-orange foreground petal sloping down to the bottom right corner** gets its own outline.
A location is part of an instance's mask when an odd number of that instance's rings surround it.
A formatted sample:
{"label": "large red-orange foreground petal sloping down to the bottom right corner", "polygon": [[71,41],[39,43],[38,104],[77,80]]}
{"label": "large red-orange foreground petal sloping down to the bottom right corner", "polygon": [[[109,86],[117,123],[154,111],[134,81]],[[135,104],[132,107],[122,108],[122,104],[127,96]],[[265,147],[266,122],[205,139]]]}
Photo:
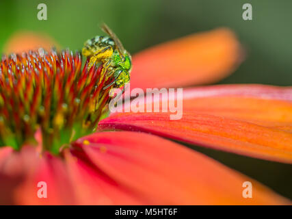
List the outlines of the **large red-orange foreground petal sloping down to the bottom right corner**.
{"label": "large red-orange foreground petal sloping down to the bottom right corner", "polygon": [[[77,146],[105,176],[146,205],[289,204],[261,183],[201,153],[146,133],[95,133],[78,140]],[[242,196],[245,181],[252,183],[252,198]]]}

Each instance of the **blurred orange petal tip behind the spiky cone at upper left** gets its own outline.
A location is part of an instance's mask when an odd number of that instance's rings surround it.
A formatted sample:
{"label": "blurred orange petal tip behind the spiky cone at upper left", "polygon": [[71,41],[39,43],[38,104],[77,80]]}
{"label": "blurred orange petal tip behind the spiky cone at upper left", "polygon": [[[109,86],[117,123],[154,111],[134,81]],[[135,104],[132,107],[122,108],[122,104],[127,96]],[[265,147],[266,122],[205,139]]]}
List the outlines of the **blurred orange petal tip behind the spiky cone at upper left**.
{"label": "blurred orange petal tip behind the spiky cone at upper left", "polygon": [[22,53],[40,47],[50,50],[52,47],[58,47],[58,44],[47,35],[24,31],[14,34],[5,44],[3,51],[8,54]]}

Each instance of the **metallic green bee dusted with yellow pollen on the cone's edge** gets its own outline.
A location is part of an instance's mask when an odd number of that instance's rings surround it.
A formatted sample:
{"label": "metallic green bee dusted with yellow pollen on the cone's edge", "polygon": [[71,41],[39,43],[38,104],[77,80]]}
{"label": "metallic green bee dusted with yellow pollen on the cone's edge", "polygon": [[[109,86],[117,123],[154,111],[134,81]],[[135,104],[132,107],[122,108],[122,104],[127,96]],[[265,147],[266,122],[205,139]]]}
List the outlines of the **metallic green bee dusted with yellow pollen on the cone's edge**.
{"label": "metallic green bee dusted with yellow pollen on the cone's edge", "polygon": [[114,85],[115,88],[124,86],[130,81],[132,68],[131,55],[124,49],[122,43],[107,25],[103,24],[101,29],[109,36],[96,36],[84,43],[82,55],[90,57],[88,69],[94,63],[102,62],[107,69],[107,77],[114,76],[114,81],[105,88]]}

